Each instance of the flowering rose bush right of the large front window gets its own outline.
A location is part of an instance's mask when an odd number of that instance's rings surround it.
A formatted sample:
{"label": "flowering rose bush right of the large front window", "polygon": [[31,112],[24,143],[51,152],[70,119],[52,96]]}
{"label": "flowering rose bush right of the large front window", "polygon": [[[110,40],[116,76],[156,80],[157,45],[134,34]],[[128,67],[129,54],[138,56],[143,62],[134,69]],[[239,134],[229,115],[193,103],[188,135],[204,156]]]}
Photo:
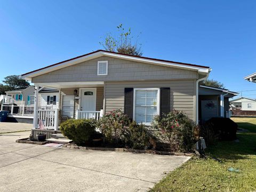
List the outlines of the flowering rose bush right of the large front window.
{"label": "flowering rose bush right of the large front window", "polygon": [[189,151],[196,141],[195,123],[181,111],[174,110],[163,117],[157,115],[152,126],[168,141],[172,151]]}

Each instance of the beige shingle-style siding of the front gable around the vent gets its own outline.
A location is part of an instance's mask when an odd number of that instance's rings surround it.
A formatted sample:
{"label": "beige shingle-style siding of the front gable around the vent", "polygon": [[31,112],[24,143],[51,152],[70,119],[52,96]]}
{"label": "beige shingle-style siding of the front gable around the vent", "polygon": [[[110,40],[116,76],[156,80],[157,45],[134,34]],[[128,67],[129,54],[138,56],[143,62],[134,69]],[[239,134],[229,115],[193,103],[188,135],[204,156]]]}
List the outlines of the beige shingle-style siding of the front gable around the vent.
{"label": "beige shingle-style siding of the front gable around the vent", "polygon": [[[108,75],[97,75],[98,61],[108,61]],[[111,57],[100,57],[62,68],[32,79],[33,83],[82,81],[138,81],[196,79],[197,71],[159,66]]]}

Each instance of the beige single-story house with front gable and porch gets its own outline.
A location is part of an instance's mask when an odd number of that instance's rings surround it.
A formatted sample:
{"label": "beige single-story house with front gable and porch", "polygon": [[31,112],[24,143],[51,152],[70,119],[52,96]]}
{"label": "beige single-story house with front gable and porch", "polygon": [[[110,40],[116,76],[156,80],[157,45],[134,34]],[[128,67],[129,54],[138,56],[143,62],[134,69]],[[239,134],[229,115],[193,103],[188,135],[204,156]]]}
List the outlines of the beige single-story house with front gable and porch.
{"label": "beige single-story house with front gable and porch", "polygon": [[[58,114],[99,118],[114,109],[144,124],[175,109],[198,123],[198,84],[210,71],[206,66],[98,50],[30,71],[22,78],[36,87],[34,127],[51,118],[45,126],[57,130]],[[59,90],[60,107],[51,115],[38,110],[39,86]]]}

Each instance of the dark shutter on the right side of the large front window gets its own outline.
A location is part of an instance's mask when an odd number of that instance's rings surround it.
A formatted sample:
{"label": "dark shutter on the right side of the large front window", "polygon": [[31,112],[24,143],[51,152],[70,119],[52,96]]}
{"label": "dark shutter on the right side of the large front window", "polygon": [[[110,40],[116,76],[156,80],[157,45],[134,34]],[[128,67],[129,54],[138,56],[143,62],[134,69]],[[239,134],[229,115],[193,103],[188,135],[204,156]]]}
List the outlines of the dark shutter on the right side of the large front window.
{"label": "dark shutter on the right side of the large front window", "polygon": [[160,116],[170,113],[170,87],[160,88]]}

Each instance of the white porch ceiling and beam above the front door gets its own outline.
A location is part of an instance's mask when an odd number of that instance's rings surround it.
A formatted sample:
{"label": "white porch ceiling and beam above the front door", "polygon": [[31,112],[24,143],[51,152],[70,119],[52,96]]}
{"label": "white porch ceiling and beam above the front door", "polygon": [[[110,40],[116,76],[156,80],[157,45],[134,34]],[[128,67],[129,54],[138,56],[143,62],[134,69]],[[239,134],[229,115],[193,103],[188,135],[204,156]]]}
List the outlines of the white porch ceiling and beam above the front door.
{"label": "white porch ceiling and beam above the front door", "polygon": [[35,86],[50,87],[54,89],[65,88],[83,88],[83,87],[99,87],[103,86],[104,82],[52,82],[52,83],[35,83]]}

